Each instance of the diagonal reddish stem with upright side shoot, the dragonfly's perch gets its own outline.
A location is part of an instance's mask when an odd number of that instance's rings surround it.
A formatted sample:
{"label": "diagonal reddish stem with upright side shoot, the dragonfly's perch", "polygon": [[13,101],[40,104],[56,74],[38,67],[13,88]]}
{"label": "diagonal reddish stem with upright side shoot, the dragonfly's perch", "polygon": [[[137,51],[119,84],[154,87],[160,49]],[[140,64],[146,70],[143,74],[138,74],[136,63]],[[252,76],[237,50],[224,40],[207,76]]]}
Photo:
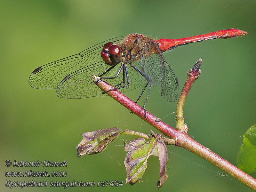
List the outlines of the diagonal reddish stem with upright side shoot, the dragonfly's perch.
{"label": "diagonal reddish stem with upright side shoot, the dragonfly's perch", "polygon": [[[198,60],[198,62],[201,63],[202,60]],[[197,70],[197,72],[198,72],[199,67],[198,68],[196,67],[196,68],[193,68],[193,69]],[[188,83],[187,85],[186,84],[184,85],[184,87],[187,87],[189,89],[190,89],[191,85],[193,84],[193,82],[197,78],[197,77],[195,78],[195,76],[197,76],[197,75],[195,73],[195,70],[193,72],[193,69],[192,69],[192,72],[191,72],[193,77],[191,77],[190,83]],[[106,92],[106,94],[108,94],[114,100],[116,100],[117,102],[122,104],[124,107],[129,109],[135,115],[139,116],[141,119],[146,121],[148,124],[155,127],[157,130],[162,132],[167,137],[176,140],[176,144],[175,144],[176,146],[185,148],[185,149],[193,152],[194,154],[202,157],[203,159],[210,162],[211,164],[219,167],[221,170],[227,172],[228,174],[230,174],[231,176],[233,176],[237,180],[241,181],[242,183],[244,183],[248,187],[256,190],[256,180],[254,178],[252,178],[247,173],[241,171],[236,166],[229,163],[228,161],[226,161],[222,157],[213,153],[210,149],[204,147],[203,145],[198,143],[196,140],[193,140],[187,134],[187,131],[186,131],[187,127],[186,127],[186,125],[184,126],[183,106],[184,106],[185,99],[188,95],[189,89],[183,88],[185,90],[184,92],[187,92],[187,93],[184,93],[184,95],[180,96],[182,98],[179,99],[180,103],[178,104],[179,107],[177,107],[177,117],[179,117],[179,118],[182,117],[181,119],[183,119],[183,120],[180,123],[181,126],[179,125],[180,130],[176,130],[176,129],[172,128],[171,126],[167,125],[166,123],[164,123],[163,121],[159,120],[159,118],[152,115],[148,111],[146,111],[146,117],[144,117],[145,112],[144,112],[144,109],[142,107],[140,107],[138,104],[136,104],[135,102],[130,100],[128,97],[126,97],[123,93],[119,92],[118,90],[108,91],[110,89],[114,89],[114,87],[112,85],[106,83],[105,81],[102,81],[100,79],[100,77],[92,75],[92,78],[93,78],[94,83],[103,92]],[[182,127],[182,122],[183,122],[183,127]],[[178,124],[178,123],[176,122],[176,124]]]}

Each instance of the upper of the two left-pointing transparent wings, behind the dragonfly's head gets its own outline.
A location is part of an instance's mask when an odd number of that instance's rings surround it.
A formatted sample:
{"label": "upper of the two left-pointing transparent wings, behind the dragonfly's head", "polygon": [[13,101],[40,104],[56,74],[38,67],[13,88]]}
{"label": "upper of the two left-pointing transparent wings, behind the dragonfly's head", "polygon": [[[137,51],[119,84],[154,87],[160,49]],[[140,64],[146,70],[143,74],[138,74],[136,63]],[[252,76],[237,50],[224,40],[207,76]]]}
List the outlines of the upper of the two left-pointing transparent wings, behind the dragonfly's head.
{"label": "upper of the two left-pointing transparent wings, behind the dragonfly's head", "polygon": [[[107,66],[100,57],[103,46],[108,42],[118,43],[125,36],[119,36],[96,44],[76,55],[48,63],[36,68],[29,76],[29,84],[37,89],[56,89],[64,77],[77,71],[88,71],[97,74],[98,71],[107,70]],[[103,63],[105,66],[103,66]],[[99,67],[100,66],[100,67]],[[88,73],[84,73],[87,75]],[[91,78],[91,75],[84,78]],[[74,81],[74,83],[76,83]]]}

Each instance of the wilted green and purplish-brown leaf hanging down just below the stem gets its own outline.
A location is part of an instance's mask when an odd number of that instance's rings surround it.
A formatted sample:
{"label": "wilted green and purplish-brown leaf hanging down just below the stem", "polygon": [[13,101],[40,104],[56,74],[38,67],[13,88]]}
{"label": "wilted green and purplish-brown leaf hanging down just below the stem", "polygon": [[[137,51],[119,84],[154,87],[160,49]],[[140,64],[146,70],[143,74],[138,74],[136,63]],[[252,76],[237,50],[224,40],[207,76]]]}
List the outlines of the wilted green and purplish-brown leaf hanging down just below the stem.
{"label": "wilted green and purplish-brown leaf hanging down just below the stem", "polygon": [[164,141],[160,138],[160,134],[154,139],[146,142],[144,138],[132,140],[128,143],[124,150],[129,151],[125,157],[124,165],[126,167],[127,178],[126,183],[130,185],[140,182],[146,168],[147,160],[151,155],[158,156],[160,161],[160,180],[157,183],[157,188],[161,188],[168,178],[165,170],[165,165],[168,162],[167,149]]}

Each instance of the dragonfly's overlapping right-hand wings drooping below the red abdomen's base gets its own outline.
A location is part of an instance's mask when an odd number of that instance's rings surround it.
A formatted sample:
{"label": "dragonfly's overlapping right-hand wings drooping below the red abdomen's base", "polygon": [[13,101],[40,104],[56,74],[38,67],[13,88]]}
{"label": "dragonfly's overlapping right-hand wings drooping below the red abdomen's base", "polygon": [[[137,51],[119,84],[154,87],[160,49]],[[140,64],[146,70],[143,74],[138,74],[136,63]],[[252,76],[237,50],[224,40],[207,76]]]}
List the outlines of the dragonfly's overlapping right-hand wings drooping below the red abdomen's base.
{"label": "dragonfly's overlapping right-hand wings drooping below the red abdomen's base", "polygon": [[164,99],[171,102],[177,100],[178,79],[165,61],[156,42],[143,37],[139,45],[142,71],[148,76],[152,85],[158,85],[161,82],[161,95]]}

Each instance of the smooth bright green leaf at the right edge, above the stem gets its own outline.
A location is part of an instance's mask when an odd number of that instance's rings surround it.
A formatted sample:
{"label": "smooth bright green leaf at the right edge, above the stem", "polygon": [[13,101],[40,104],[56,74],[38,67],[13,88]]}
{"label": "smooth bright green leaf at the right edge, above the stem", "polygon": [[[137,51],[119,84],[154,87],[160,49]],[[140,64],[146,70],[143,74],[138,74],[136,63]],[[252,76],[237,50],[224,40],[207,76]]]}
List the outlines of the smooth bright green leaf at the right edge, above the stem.
{"label": "smooth bright green leaf at the right edge, above the stem", "polygon": [[239,169],[248,174],[256,171],[256,124],[244,134],[244,144],[238,153],[237,164]]}

